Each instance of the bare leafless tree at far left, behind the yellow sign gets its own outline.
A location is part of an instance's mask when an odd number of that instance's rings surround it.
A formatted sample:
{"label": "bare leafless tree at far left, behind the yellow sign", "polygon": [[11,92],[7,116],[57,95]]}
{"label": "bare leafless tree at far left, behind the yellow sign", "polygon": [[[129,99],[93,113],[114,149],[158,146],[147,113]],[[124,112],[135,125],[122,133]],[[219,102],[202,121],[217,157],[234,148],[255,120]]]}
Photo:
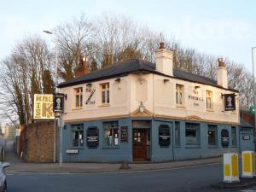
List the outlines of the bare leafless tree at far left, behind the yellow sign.
{"label": "bare leafless tree at far left, behind the yellow sign", "polygon": [[2,62],[1,85],[9,95],[3,99],[20,125],[32,119],[34,94],[53,93],[51,62],[47,44],[38,37],[24,38]]}

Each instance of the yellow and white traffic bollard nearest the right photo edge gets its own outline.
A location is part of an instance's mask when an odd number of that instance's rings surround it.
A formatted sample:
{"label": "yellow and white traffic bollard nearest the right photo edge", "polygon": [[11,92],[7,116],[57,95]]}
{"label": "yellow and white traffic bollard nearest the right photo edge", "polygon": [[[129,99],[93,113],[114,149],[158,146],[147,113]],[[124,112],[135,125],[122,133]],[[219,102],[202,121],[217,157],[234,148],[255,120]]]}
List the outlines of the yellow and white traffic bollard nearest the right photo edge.
{"label": "yellow and white traffic bollard nearest the right photo edge", "polygon": [[252,178],[255,176],[255,155],[253,151],[243,151],[242,158],[242,177]]}

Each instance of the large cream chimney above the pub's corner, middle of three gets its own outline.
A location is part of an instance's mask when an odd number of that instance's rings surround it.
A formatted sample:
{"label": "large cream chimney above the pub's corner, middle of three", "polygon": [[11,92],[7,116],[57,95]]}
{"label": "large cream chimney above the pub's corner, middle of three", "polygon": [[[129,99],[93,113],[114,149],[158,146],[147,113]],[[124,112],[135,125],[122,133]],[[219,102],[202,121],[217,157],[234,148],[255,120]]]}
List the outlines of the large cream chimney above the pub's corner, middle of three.
{"label": "large cream chimney above the pub's corner, middle of three", "polygon": [[173,76],[173,52],[165,49],[165,44],[160,43],[160,48],[155,51],[156,70],[160,73]]}

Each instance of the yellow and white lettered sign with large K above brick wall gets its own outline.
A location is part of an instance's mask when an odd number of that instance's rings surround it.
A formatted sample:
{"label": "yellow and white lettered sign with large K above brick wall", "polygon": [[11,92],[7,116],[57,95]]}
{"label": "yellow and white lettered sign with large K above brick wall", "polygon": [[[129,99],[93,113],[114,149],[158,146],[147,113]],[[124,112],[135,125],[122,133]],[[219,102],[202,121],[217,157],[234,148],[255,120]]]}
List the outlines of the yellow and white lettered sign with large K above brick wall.
{"label": "yellow and white lettered sign with large K above brick wall", "polygon": [[34,119],[55,119],[53,112],[53,95],[34,95]]}

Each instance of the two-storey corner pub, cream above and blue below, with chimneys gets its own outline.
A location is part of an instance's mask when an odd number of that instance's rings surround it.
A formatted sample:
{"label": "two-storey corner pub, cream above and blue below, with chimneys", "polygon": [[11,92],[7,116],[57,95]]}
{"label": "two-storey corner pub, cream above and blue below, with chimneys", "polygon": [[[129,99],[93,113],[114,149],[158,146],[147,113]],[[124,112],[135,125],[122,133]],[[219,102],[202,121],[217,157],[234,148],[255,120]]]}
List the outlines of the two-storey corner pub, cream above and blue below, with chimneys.
{"label": "two-storey corner pub, cream above and blue below, with chimneys", "polygon": [[173,68],[160,43],[156,63],[130,60],[59,84],[64,101],[63,161],[172,161],[239,151],[239,92],[218,80]]}

